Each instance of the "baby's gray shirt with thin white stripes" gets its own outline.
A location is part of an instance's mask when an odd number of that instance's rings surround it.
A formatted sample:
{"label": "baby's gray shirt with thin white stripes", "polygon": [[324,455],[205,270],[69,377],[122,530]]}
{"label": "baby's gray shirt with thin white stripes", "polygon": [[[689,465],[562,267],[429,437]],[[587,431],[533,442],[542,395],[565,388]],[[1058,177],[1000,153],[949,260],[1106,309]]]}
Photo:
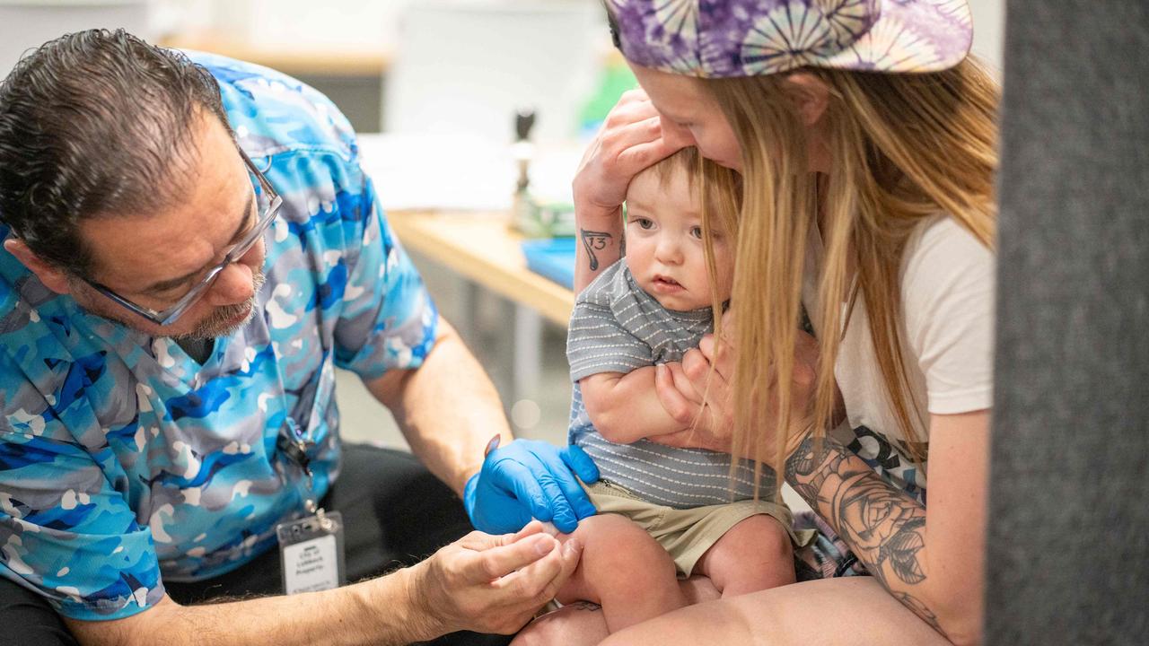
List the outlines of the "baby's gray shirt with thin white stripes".
{"label": "baby's gray shirt with thin white stripes", "polygon": [[[724,505],[754,497],[754,467],[741,461],[730,478],[731,456],[694,448],[673,448],[640,439],[615,444],[594,429],[583,405],[578,380],[599,372],[630,372],[646,366],[681,361],[712,330],[711,308],[672,312],[642,291],[620,260],[579,294],[566,337],[574,397],[570,444],[594,459],[602,477],[640,498],[678,509]],[[763,477],[759,498],[773,495]]]}

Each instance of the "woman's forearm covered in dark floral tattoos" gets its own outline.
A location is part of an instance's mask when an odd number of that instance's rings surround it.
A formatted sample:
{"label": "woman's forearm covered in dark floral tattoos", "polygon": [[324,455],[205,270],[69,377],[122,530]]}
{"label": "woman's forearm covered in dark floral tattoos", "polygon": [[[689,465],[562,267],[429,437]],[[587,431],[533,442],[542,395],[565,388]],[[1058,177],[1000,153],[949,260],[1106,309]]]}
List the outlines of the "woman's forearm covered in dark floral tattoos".
{"label": "woman's forearm covered in dark floral tattoos", "polygon": [[980,605],[932,571],[926,508],[917,500],[828,437],[801,441],[786,482],[895,599],[955,644],[978,641]]}

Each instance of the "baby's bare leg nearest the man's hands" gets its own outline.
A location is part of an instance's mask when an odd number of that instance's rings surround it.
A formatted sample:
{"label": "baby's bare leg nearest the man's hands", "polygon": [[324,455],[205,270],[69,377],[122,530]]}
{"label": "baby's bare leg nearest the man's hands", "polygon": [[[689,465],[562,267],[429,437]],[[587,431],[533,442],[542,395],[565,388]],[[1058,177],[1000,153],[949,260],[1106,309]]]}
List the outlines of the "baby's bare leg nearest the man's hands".
{"label": "baby's bare leg nearest the man's hands", "polygon": [[583,544],[583,560],[558,601],[599,603],[610,632],[686,606],[670,554],[630,520],[591,516],[573,536]]}

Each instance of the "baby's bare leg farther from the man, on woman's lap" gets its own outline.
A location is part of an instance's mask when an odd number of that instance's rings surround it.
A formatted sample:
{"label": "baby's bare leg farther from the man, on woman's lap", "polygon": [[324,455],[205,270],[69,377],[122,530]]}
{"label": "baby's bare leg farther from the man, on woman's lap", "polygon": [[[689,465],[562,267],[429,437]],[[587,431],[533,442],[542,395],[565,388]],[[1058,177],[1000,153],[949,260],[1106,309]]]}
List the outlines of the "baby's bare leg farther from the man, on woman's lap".
{"label": "baby's bare leg farther from the man, on woman's lap", "polygon": [[696,571],[709,576],[724,599],[794,583],[789,533],[772,516],[750,516],[702,555]]}

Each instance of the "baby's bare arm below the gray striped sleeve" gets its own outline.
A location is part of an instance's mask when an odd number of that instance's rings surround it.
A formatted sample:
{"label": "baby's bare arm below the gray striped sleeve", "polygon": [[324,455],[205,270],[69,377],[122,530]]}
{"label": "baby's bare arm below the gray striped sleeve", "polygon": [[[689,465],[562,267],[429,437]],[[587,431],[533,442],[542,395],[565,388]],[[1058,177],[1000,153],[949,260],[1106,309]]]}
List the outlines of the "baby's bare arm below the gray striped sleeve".
{"label": "baby's bare arm below the gray striped sleeve", "polygon": [[654,366],[630,372],[599,372],[579,379],[583,405],[594,428],[615,444],[689,429],[662,407],[654,390]]}

